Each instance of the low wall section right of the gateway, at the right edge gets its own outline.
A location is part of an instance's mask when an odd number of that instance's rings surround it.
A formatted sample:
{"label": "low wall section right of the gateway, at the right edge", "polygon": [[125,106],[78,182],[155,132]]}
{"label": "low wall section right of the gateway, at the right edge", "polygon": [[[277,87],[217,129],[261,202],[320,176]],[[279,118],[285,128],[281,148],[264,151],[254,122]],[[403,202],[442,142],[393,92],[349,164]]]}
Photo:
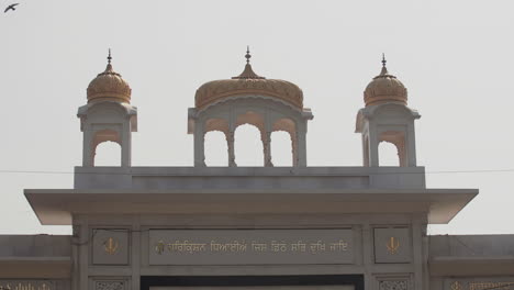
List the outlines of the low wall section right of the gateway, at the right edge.
{"label": "low wall section right of the gateway, at the right edge", "polygon": [[432,289],[514,289],[514,235],[429,236]]}

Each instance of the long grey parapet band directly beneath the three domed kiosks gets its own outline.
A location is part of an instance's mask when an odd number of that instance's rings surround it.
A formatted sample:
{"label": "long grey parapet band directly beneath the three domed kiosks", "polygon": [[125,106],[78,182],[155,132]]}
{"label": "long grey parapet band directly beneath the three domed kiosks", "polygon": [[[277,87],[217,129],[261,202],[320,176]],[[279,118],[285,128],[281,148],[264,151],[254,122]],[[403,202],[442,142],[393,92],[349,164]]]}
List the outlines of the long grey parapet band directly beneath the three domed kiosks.
{"label": "long grey parapet band directly beneath the three domed kiosks", "polygon": [[75,189],[424,189],[424,167],[76,167]]}

